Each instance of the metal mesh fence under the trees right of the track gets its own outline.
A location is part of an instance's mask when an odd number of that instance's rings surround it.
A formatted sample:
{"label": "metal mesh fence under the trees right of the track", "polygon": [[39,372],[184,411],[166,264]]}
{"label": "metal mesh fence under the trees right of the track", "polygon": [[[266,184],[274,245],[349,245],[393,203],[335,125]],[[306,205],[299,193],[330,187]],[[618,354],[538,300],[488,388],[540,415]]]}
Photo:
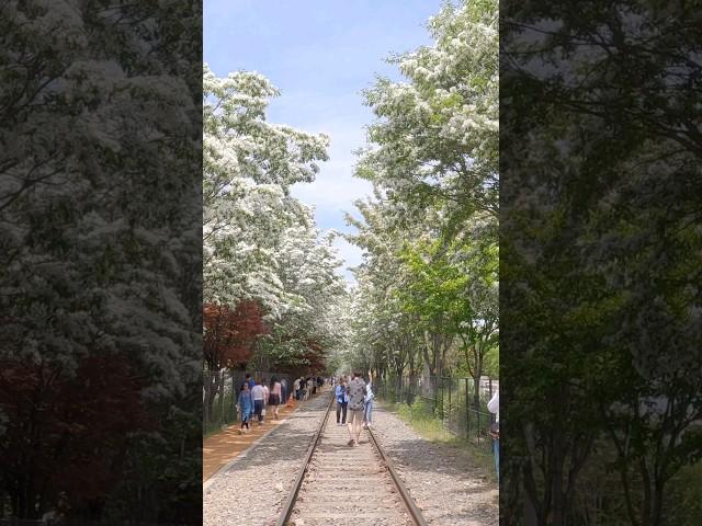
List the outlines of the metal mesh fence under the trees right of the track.
{"label": "metal mesh fence under the trees right of the track", "polygon": [[452,435],[490,447],[487,434],[495,415],[487,402],[499,390],[499,380],[452,377],[399,377],[375,379],[373,390],[380,400],[405,403],[412,419],[435,419]]}

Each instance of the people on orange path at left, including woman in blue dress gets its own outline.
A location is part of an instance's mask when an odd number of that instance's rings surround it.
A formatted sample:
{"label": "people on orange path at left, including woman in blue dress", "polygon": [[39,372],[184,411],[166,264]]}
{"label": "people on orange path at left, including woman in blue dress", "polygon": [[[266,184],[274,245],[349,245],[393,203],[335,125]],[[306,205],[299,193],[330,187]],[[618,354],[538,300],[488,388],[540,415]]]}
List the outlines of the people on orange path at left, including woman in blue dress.
{"label": "people on orange path at left, including woman in blue dress", "polygon": [[237,409],[241,416],[240,433],[250,431],[249,424],[253,418],[258,419],[259,425],[263,425],[265,418],[265,408],[270,407],[273,412],[273,419],[278,420],[279,408],[287,391],[287,381],[283,378],[271,377],[270,382],[264,379],[251,378],[249,373],[241,382],[239,396],[237,397]]}

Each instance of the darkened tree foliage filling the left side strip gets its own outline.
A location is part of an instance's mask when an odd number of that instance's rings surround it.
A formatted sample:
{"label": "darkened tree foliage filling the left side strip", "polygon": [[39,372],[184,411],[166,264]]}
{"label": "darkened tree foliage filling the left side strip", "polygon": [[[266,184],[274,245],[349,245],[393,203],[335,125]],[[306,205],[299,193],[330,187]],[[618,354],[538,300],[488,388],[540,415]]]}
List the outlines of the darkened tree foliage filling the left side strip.
{"label": "darkened tree foliage filling the left side strip", "polygon": [[201,483],[195,20],[0,5],[0,500],[20,518],[168,521]]}

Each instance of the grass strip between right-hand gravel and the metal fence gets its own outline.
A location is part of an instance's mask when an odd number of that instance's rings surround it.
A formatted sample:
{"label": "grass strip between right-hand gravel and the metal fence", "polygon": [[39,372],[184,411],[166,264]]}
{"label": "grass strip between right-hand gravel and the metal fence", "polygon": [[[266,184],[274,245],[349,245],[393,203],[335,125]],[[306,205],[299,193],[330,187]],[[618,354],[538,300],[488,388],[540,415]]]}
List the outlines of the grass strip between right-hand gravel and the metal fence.
{"label": "grass strip between right-hand gravel and the metal fence", "polygon": [[381,401],[380,404],[383,409],[409,424],[422,438],[431,442],[440,449],[451,451],[452,455],[466,459],[478,468],[480,474],[497,484],[495,458],[488,443],[482,439],[480,444],[477,444],[473,439],[451,433],[442,421],[434,416],[424,400],[417,399],[411,405],[385,401]]}

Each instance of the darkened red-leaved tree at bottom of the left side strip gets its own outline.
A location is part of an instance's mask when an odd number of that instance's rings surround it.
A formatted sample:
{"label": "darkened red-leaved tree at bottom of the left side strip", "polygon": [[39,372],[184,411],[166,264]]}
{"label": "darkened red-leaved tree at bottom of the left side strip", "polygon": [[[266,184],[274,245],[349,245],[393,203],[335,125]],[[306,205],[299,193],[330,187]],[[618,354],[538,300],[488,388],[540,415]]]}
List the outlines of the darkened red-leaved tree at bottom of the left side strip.
{"label": "darkened red-leaved tree at bottom of the left side strip", "polygon": [[[86,357],[78,370],[0,361],[0,482],[15,516],[100,508],[120,480],[129,433],[154,430],[143,380],[116,354]],[[70,502],[71,508],[61,508]]]}

